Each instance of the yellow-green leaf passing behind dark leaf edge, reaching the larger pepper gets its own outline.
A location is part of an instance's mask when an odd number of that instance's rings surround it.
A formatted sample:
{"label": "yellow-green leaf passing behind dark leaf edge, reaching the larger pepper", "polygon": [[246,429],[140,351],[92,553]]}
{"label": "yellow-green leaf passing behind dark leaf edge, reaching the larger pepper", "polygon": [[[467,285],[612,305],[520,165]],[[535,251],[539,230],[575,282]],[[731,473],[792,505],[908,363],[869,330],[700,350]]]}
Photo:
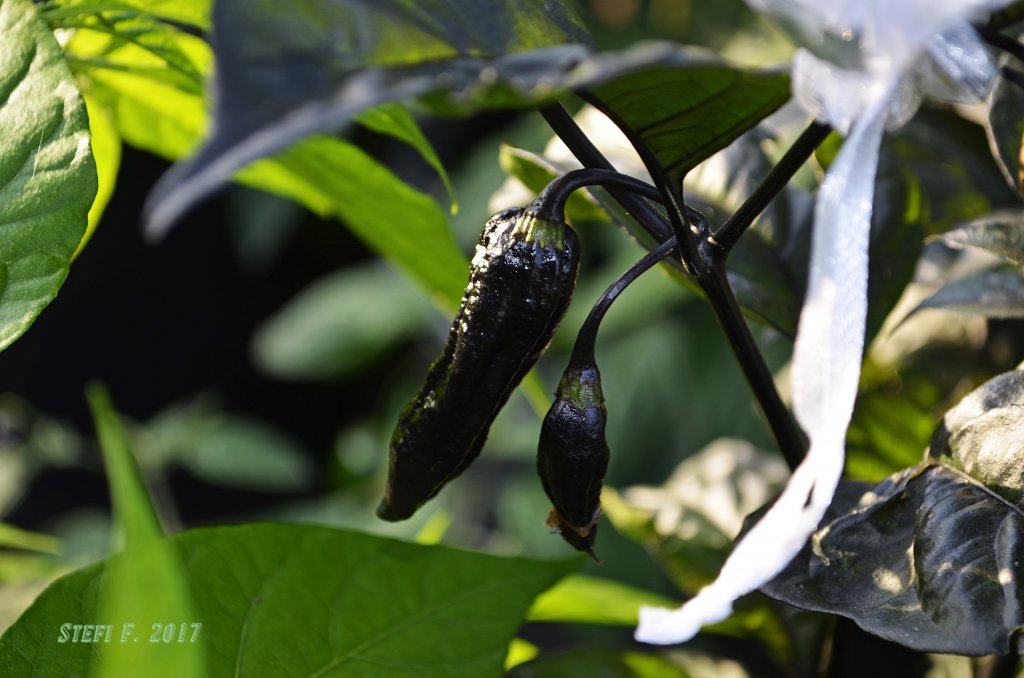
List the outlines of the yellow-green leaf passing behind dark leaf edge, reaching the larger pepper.
{"label": "yellow-green leaf passing behind dark leaf edge, reaching the larger pepper", "polygon": [[[208,58],[197,51],[197,61]],[[207,116],[199,95],[144,74],[80,68],[88,76],[90,94],[106,108],[131,145],[175,160],[203,134]],[[321,216],[339,217],[416,281],[436,305],[445,310],[458,305],[469,263],[455,245],[447,217],[432,199],[356,146],[314,136],[275,158],[253,163],[236,178],[295,200]]]}

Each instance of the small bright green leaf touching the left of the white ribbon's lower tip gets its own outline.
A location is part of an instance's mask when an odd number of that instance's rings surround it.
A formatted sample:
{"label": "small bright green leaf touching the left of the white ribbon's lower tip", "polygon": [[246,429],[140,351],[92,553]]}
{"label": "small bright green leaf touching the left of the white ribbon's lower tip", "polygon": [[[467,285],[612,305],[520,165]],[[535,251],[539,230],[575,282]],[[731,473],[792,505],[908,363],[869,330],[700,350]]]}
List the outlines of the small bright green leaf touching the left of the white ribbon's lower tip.
{"label": "small bright green leaf touching the left of the white ribbon's lower tip", "polygon": [[621,582],[570,575],[542,593],[526,613],[530,622],[635,626],[640,605],[671,607],[665,596]]}

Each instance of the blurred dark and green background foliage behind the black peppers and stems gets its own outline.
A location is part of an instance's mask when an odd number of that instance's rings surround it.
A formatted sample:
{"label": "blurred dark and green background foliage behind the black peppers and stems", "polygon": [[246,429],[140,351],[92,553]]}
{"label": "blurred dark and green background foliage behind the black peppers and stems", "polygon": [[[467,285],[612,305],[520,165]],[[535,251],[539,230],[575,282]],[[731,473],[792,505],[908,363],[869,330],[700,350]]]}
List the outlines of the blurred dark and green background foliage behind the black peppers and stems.
{"label": "blurred dark and green background foliage behind the black peppers and stems", "polygon": [[[606,48],[663,38],[740,62],[779,62],[791,49],[740,0],[589,0],[584,10]],[[970,139],[958,155],[949,147],[961,138],[953,134],[935,152],[934,129],[919,138],[911,129],[894,144],[920,162],[916,178],[936,192],[935,200],[913,194],[928,206],[931,225],[923,235],[1013,204],[998,169],[982,157],[977,120],[929,115],[936,125],[955,118]],[[502,144],[506,153],[544,154],[551,133],[531,114],[418,121],[451,177],[458,205],[451,224],[469,255],[497,207],[528,199],[508,183]],[[768,157],[785,149],[784,117],[776,122],[780,138],[760,143]],[[195,210],[163,242],[145,243],[142,201],[168,164],[124,136],[118,189],[69,282],[26,339],[0,353],[0,627],[53,577],[112,549],[106,485],[83,396],[93,379],[127,417],[143,477],[172,532],[282,519],[500,554],[567,555],[544,525],[549,503],[535,466],[538,393],[550,398],[575,330],[604,288],[639,258],[638,245],[593,218],[593,210],[575,210],[585,260],[572,307],[537,371],[543,389],[530,398],[514,395],[480,459],[413,519],[385,523],[374,508],[391,429],[439,352],[450,317],[339,221],[239,185]],[[449,210],[449,189],[424,155],[372,126],[353,126],[345,138]],[[949,165],[931,163],[929,153],[945,154]],[[965,154],[973,154],[973,165],[963,162]],[[827,163],[827,146],[819,161]],[[694,180],[711,171],[700,168]],[[810,167],[798,183],[813,185],[817,171]],[[517,189],[518,198],[510,197]],[[955,201],[943,203],[949,196]],[[894,199],[894,210],[905,214],[903,199]],[[894,257],[906,255],[897,249]],[[899,323],[937,281],[984,268],[971,259],[929,242],[913,282],[898,303],[891,300],[888,320],[879,319],[885,325],[868,352],[849,433],[853,477],[879,480],[920,461],[942,412],[1020,362],[1020,321],[927,310]],[[905,276],[913,272],[911,265]],[[784,389],[790,340],[767,326],[754,329]],[[598,544],[604,562],[585,571],[677,598],[717,571],[742,517],[780,486],[784,467],[711,310],[665,271],[624,294],[597,350],[612,461]],[[785,663],[812,666],[818,658],[801,652],[816,643],[792,638],[820,633],[820,622],[807,622],[813,617],[756,599],[720,636],[701,636],[695,647],[742,654],[758,675]],[[599,647],[608,638],[625,643],[628,635],[625,625],[556,629],[543,621],[523,632],[549,650]],[[626,666],[621,673],[595,658],[544,662],[578,672],[597,662],[607,669],[601,675],[743,675],[738,666],[701,665],[694,654],[675,664],[671,654],[616,655],[627,665],[669,667]],[[526,667],[516,675],[540,675]],[[557,670],[544,675],[562,675],[551,673]]]}

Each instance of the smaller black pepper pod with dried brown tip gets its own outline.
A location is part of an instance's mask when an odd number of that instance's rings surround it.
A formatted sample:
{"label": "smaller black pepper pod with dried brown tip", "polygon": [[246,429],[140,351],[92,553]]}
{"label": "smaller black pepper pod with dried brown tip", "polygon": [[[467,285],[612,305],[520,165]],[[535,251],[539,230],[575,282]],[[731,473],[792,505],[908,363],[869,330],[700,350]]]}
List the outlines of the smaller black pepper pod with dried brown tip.
{"label": "smaller black pepper pod with dried brown tip", "polygon": [[548,524],[578,551],[594,554],[601,482],[608,470],[607,412],[593,359],[573,355],[544,418],[537,470],[554,507]]}

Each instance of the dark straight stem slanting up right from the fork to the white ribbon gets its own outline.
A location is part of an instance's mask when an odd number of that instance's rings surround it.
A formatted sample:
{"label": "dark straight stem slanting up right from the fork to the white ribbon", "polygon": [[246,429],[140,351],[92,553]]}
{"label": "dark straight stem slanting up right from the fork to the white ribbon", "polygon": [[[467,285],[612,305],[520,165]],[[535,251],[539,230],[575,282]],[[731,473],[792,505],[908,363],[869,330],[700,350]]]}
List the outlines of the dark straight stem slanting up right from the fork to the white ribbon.
{"label": "dark straight stem slanting up right from the fork to the white ribbon", "polygon": [[811,157],[814,150],[821,145],[831,127],[819,122],[812,122],[810,126],[794,141],[790,150],[762,179],[754,193],[743,201],[739,209],[715,231],[711,237],[710,244],[717,246],[718,256],[725,258],[732,248],[739,242],[739,238],[746,231],[754,219],[764,211],[775,196],[785,187],[793,175],[797,173],[807,159]]}

